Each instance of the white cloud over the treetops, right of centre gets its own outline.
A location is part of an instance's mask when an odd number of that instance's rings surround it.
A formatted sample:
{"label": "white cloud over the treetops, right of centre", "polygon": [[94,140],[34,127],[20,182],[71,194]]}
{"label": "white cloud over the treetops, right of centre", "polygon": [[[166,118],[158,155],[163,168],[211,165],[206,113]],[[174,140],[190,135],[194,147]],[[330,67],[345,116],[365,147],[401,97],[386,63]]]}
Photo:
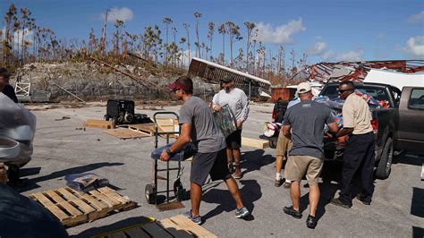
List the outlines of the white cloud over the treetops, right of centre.
{"label": "white cloud over the treetops, right of centre", "polygon": [[302,25],[301,18],[275,28],[271,24],[261,21],[256,28],[258,29],[258,37],[256,38],[258,41],[276,44],[293,43],[293,35],[306,30]]}

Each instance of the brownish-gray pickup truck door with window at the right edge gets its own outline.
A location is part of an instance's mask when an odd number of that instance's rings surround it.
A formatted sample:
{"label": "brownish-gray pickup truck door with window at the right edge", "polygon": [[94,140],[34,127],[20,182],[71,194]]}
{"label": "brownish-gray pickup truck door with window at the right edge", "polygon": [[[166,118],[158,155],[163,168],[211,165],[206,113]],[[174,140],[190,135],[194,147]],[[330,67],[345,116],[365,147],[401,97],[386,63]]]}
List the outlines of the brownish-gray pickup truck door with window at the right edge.
{"label": "brownish-gray pickup truck door with window at the right edge", "polygon": [[424,155],[424,87],[403,87],[397,149]]}

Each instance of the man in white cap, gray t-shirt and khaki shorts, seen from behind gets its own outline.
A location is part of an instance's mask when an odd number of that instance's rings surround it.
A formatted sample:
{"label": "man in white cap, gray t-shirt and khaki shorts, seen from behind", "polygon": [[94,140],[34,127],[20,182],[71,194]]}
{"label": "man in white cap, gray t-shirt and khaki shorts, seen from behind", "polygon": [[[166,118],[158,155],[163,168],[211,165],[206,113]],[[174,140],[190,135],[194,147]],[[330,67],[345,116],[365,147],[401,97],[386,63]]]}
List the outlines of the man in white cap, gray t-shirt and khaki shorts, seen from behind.
{"label": "man in white cap, gray t-shirt and khaki shorts, seen from behind", "polygon": [[287,109],[284,115],[284,136],[292,137],[293,148],[289,151],[284,175],[292,181],[290,193],[293,206],[284,207],[284,212],[296,218],[301,218],[299,200],[301,197],[300,182],[306,174],[310,185],[310,216],[306,220],[309,228],[315,228],[317,218],[315,213],[319,201],[318,176],[322,170],[324,158],[324,126],[337,132],[337,124],[331,116],[330,109],[312,101],[310,83],[301,82],[298,85],[301,102]]}

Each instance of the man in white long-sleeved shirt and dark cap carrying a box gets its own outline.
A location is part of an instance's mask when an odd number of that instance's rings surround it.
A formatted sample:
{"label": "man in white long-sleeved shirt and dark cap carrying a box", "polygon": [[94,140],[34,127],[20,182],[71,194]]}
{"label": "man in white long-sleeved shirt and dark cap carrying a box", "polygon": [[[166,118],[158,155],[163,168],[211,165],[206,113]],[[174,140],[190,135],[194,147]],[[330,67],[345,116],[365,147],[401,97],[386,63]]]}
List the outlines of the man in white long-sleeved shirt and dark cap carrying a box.
{"label": "man in white long-sleeved shirt and dark cap carrying a box", "polygon": [[[232,76],[221,80],[223,88],[214,97],[212,104],[215,111],[220,111],[221,106],[228,105],[233,111],[236,120],[237,131],[226,138],[226,154],[228,167],[235,179],[242,178],[240,167],[240,148],[242,147],[242,124],[249,116],[249,100],[242,89],[235,88]],[[233,170],[233,163],[235,170]]]}

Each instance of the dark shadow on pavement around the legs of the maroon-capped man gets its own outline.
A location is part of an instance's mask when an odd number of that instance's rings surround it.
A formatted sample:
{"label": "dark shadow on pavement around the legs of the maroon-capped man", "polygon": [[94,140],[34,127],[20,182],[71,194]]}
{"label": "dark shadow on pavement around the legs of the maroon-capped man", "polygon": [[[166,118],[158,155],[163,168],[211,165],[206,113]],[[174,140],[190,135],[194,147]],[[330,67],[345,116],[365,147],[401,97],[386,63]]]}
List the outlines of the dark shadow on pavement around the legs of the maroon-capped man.
{"label": "dark shadow on pavement around the legs of the maroon-capped man", "polygon": [[[253,213],[255,208],[254,202],[262,197],[260,185],[255,180],[241,180],[239,183],[242,183],[243,185],[243,187],[240,189],[240,193],[242,195],[244,206],[249,209],[250,213]],[[212,188],[203,194],[202,201],[218,204],[216,208],[210,210],[205,216],[202,216],[204,221],[223,212],[235,211],[235,202],[233,201],[233,197],[228,190]],[[253,216],[246,217],[246,220],[253,219]]]}

